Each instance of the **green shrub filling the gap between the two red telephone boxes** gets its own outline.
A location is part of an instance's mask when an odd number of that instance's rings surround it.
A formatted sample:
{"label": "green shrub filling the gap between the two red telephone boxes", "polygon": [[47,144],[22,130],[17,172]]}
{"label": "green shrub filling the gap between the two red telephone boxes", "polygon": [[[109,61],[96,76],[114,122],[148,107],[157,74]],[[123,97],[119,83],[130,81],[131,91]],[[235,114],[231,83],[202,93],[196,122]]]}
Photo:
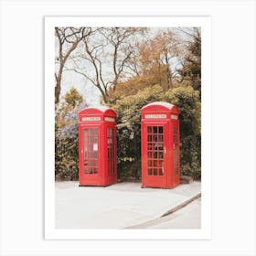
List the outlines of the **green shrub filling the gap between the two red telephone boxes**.
{"label": "green shrub filling the gap between the two red telephone boxes", "polygon": [[163,97],[163,89],[155,85],[138,91],[111,107],[118,114],[118,176],[119,178],[141,176],[141,108]]}

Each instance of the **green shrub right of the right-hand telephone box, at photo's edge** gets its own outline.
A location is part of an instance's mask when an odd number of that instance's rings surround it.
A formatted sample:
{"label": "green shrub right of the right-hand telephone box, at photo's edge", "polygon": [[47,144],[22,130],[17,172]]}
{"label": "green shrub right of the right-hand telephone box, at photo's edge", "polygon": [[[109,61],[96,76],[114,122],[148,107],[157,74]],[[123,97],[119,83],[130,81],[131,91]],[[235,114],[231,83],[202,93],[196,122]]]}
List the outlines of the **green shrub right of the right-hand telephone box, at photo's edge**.
{"label": "green shrub right of the right-hand telephone box, at photo's edge", "polygon": [[181,175],[201,177],[201,102],[191,86],[170,89],[165,101],[179,109]]}

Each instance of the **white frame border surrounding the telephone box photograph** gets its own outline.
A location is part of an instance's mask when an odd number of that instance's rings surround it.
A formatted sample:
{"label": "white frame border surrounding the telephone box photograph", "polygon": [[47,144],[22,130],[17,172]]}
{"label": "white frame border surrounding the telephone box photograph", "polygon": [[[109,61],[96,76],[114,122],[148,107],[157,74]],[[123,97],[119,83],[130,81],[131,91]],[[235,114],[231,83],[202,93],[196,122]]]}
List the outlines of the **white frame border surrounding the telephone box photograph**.
{"label": "white frame border surrounding the telephone box photograph", "polygon": [[[201,27],[202,218],[201,229],[55,229],[54,27]],[[209,16],[45,17],[45,238],[61,240],[208,240],[211,237],[211,19]],[[206,86],[207,85],[207,86]]]}

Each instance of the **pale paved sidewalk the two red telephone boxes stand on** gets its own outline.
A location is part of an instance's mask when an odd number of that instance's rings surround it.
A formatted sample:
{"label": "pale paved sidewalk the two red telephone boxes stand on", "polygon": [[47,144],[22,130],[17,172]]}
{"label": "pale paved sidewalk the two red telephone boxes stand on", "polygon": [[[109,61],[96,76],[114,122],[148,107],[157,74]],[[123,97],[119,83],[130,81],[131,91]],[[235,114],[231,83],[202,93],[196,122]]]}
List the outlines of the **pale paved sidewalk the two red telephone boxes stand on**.
{"label": "pale paved sidewalk the two red telephone boxes stand on", "polygon": [[56,182],[56,228],[125,229],[165,216],[200,194],[200,182],[173,189],[141,188],[133,182],[110,187]]}

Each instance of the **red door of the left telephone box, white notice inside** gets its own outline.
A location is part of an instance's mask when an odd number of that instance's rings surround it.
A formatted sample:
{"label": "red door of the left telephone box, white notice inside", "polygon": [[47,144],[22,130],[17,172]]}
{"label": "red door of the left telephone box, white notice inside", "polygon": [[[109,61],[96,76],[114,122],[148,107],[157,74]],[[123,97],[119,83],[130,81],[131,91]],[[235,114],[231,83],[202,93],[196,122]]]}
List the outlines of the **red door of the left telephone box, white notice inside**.
{"label": "red door of the left telephone box, white notice inside", "polygon": [[82,129],[82,143],[80,148],[80,176],[82,180],[97,185],[100,182],[99,176],[99,127],[86,126]]}

